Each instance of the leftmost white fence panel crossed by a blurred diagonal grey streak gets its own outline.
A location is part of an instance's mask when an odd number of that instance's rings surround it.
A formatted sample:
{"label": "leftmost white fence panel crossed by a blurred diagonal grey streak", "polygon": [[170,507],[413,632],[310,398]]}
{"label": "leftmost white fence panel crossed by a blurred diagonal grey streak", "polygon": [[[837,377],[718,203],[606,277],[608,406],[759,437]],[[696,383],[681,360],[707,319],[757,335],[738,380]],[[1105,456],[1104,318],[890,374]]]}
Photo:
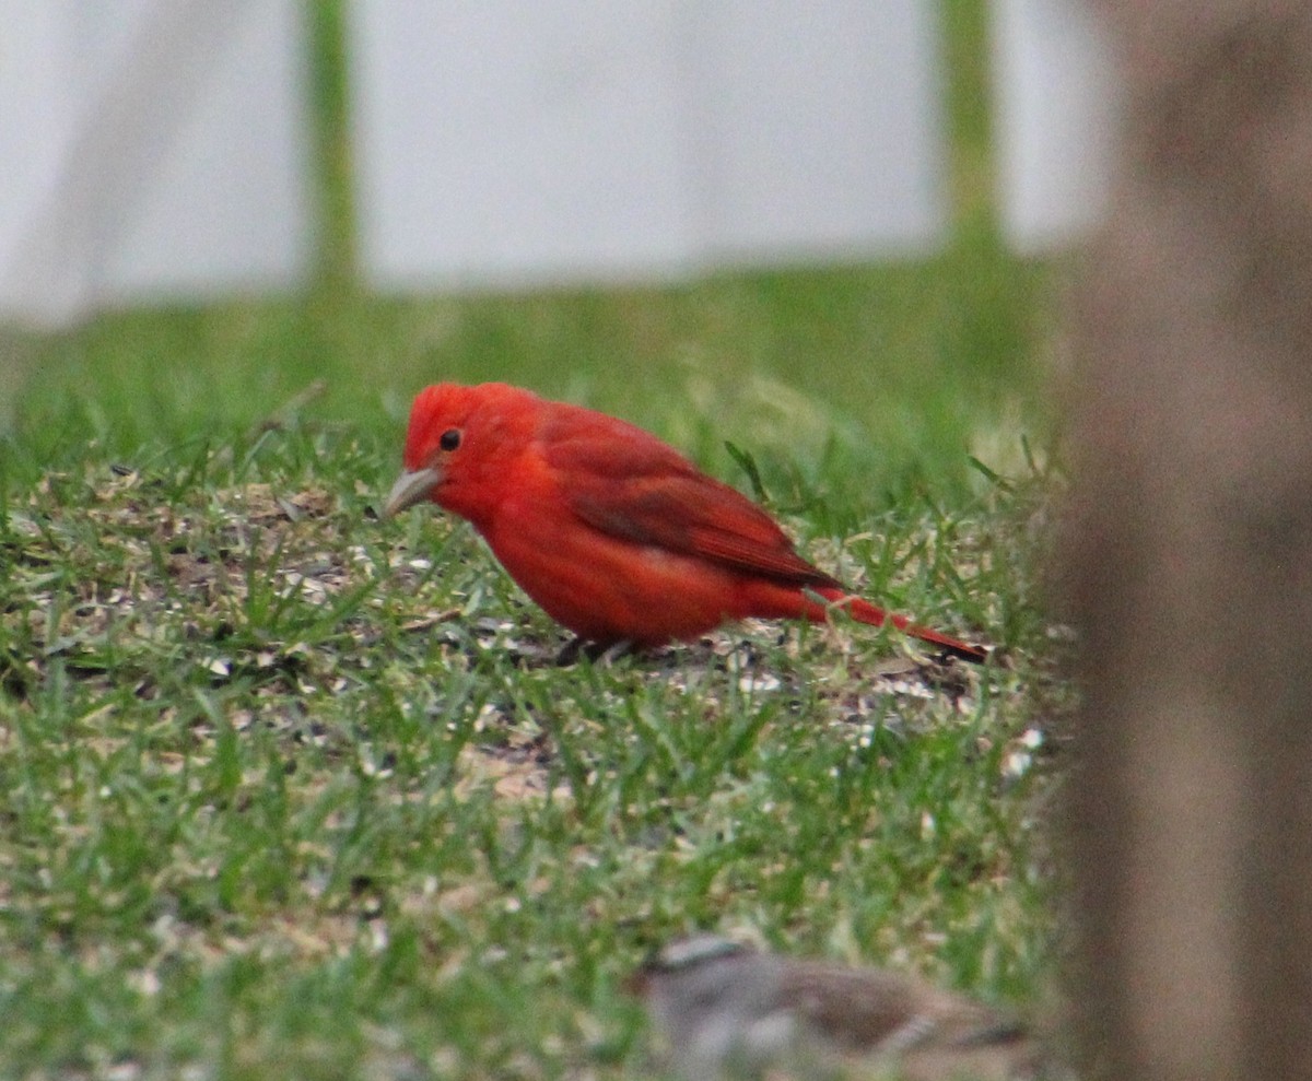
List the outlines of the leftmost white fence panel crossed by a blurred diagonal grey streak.
{"label": "leftmost white fence panel crossed by a blurred diagonal grey streak", "polygon": [[304,274],[295,0],[0,0],[0,312]]}

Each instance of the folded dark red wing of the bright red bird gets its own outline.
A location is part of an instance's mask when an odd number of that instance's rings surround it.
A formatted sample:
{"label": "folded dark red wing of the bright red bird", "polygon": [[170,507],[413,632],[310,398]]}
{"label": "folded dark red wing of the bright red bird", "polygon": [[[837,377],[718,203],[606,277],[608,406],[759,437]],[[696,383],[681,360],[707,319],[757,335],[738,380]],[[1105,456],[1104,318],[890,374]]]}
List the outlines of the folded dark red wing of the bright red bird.
{"label": "folded dark red wing of the bright red bird", "polygon": [[789,584],[838,586],[747,496],[640,429],[548,439],[544,458],[569,509],[593,529]]}

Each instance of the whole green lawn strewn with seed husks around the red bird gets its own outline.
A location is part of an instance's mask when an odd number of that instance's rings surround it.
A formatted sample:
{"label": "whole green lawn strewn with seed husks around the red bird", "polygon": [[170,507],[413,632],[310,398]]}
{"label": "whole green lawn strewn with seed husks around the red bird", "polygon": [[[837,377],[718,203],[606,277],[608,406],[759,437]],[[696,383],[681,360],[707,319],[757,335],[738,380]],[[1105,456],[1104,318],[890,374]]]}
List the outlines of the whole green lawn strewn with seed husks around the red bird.
{"label": "whole green lawn strewn with seed husks around the red bird", "polygon": [[[619,984],[693,929],[1044,1013],[1048,277],[958,123],[932,260],[387,299],[329,243],[304,295],[9,333],[0,1076],[651,1076]],[[378,517],[413,392],[492,378],[997,663],[836,621],[558,666],[467,526]]]}

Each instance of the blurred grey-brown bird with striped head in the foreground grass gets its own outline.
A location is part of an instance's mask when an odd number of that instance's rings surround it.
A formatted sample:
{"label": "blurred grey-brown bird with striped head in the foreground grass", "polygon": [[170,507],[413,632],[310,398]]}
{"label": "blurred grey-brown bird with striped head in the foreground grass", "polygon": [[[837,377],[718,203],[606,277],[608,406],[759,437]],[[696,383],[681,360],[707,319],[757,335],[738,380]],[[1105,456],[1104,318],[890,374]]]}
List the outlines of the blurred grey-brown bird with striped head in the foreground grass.
{"label": "blurred grey-brown bird with striped head in the foreground grass", "polygon": [[[1001,1081],[1035,1077],[1012,1018],[893,972],[762,954],[697,935],[628,981],[687,1081],[760,1077]],[[771,1072],[769,1076],[781,1076]]]}

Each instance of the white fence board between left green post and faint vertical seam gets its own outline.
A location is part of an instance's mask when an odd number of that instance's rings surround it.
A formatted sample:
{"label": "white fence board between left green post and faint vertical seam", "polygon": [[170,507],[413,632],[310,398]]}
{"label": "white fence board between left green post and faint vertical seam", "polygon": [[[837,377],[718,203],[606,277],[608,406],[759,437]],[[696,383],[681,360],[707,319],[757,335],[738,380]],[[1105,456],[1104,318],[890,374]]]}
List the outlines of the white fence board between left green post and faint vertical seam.
{"label": "white fence board between left green post and faint vertical seam", "polygon": [[669,265],[678,88],[656,4],[357,0],[361,244],[386,287]]}

